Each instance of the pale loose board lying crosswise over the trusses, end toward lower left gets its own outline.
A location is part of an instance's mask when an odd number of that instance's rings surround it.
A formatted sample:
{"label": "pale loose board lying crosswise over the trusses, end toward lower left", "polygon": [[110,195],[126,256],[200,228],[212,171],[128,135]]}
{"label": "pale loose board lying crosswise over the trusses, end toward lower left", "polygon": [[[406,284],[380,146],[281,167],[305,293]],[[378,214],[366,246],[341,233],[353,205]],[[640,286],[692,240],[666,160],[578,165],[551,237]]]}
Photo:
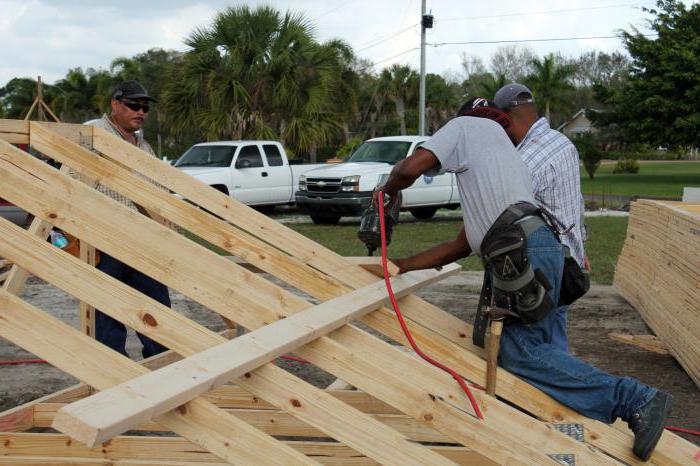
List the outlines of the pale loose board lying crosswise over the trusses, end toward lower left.
{"label": "pale loose board lying crosswise over the trusses, end toward lower left", "polygon": [[[401,297],[459,270],[458,265],[451,264],[439,272],[410,272],[395,277],[392,288]],[[88,446],[103,443],[332,332],[385,300],[388,292],[380,282],[326,301],[75,402],[59,412],[53,427]]]}

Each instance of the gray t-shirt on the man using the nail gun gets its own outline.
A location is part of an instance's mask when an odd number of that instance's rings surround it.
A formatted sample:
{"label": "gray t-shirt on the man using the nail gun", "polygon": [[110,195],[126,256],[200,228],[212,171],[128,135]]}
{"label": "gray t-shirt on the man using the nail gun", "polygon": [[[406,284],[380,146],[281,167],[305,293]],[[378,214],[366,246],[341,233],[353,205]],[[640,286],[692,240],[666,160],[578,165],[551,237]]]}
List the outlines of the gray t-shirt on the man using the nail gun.
{"label": "gray t-shirt on the man using the nail gun", "polygon": [[[475,254],[493,222],[511,204],[535,204],[527,167],[495,121],[455,118],[422,146],[455,174],[467,240]],[[438,171],[438,170],[434,170]]]}

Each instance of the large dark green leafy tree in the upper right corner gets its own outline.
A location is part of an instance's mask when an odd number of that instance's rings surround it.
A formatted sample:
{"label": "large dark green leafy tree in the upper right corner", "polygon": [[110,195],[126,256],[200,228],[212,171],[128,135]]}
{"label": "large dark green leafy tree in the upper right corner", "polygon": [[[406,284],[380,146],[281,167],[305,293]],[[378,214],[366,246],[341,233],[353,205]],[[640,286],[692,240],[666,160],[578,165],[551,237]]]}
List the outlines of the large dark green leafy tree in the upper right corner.
{"label": "large dark green leafy tree in the upper right corner", "polygon": [[646,11],[657,36],[623,32],[631,74],[619,89],[596,88],[607,106],[596,125],[655,147],[700,147],[700,4],[661,0]]}

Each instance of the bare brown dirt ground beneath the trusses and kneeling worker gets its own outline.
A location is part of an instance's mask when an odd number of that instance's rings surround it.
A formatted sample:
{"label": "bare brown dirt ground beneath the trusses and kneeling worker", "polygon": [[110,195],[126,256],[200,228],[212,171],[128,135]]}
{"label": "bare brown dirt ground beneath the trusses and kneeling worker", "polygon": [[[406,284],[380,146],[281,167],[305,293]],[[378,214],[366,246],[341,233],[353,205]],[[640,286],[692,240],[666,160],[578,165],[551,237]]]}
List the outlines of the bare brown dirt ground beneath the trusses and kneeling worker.
{"label": "bare brown dirt ground beneath the trusses and kneeling worker", "polygon": [[[469,322],[473,319],[480,286],[479,272],[462,272],[418,294]],[[173,308],[219,331],[225,328],[216,314],[171,290]],[[30,279],[25,299],[53,316],[77,326],[78,303],[69,295]],[[671,356],[660,355],[610,340],[610,332],[651,333],[639,314],[611,286],[594,285],[569,313],[569,339],[574,355],[617,375],[636,377],[675,397],[669,425],[700,430],[700,392]],[[140,359],[140,342],[130,333],[127,350]],[[0,338],[0,360],[35,356]],[[279,360],[279,365],[311,383],[325,387],[334,378],[311,366]],[[47,364],[0,365],[0,411],[65,388],[77,381]],[[700,445],[700,438],[685,436]]]}

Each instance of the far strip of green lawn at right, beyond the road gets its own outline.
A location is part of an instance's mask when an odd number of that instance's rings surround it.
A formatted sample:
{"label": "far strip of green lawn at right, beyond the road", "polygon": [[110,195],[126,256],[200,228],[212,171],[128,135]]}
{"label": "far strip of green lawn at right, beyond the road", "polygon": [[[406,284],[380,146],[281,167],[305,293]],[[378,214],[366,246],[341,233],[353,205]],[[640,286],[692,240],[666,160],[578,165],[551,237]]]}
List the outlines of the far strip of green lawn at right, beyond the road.
{"label": "far strip of green lawn at right, beyond the road", "polygon": [[640,162],[636,175],[613,175],[614,168],[614,163],[601,165],[594,180],[581,168],[583,193],[680,199],[684,186],[700,186],[700,162]]}

